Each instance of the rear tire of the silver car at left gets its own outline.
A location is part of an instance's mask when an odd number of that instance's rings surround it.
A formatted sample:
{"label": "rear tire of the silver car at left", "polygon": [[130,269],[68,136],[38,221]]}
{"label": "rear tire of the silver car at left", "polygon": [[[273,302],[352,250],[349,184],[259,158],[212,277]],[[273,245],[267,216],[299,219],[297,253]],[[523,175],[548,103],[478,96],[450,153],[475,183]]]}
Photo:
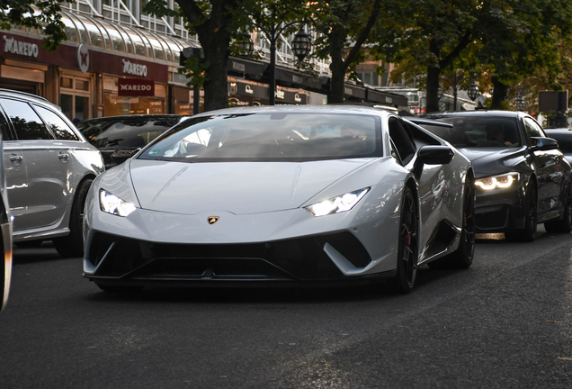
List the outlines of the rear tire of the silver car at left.
{"label": "rear tire of the silver car at left", "polygon": [[53,240],[54,247],[64,258],[84,256],[84,207],[89,188],[94,182],[88,178],[77,186],[76,197],[69,216],[69,234]]}

